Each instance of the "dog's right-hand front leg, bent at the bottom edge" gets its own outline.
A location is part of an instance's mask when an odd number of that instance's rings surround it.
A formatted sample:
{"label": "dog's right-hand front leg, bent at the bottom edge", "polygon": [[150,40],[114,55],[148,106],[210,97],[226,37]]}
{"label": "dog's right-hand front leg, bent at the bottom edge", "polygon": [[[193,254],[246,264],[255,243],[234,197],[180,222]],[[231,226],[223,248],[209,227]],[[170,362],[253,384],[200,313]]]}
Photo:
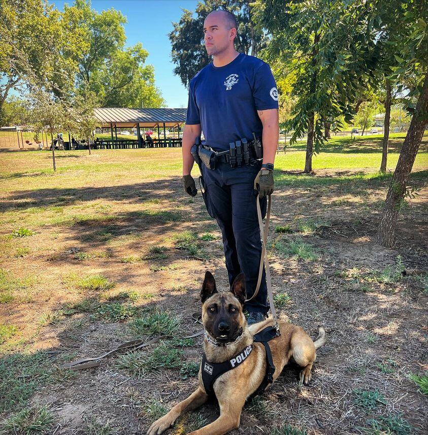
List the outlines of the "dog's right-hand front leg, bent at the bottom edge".
{"label": "dog's right-hand front leg, bent at the bottom edge", "polygon": [[218,404],[220,405],[220,417],[188,435],[223,435],[229,430],[239,427],[245,397],[225,394],[218,398]]}

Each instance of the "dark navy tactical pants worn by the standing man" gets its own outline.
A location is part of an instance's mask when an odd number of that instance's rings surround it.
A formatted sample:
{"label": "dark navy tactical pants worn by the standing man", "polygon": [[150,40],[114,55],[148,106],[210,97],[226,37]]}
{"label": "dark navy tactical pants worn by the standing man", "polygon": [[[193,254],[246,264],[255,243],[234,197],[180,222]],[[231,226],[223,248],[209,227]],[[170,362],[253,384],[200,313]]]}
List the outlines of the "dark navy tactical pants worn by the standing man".
{"label": "dark navy tactical pants worn by the standing man", "polygon": [[[257,219],[254,178],[261,163],[232,169],[228,163],[217,163],[216,169],[203,165],[205,203],[208,212],[217,221],[223,236],[224,256],[232,286],[239,273],[245,273],[247,298],[257,285],[261,256],[260,229]],[[262,216],[266,214],[267,199],[260,200]],[[267,314],[267,287],[265,269],[258,294],[246,302],[244,309]]]}

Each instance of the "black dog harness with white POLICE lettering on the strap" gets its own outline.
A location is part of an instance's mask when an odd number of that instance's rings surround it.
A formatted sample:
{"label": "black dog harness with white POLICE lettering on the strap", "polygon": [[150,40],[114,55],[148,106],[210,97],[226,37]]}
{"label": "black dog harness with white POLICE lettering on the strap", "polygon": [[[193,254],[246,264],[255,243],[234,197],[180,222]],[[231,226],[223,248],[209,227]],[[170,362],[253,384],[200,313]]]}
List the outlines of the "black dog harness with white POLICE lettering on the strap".
{"label": "black dog harness with white POLICE lettering on the strap", "polygon": [[[262,329],[260,332],[254,335],[254,343],[261,343],[265,346],[266,351],[266,373],[265,377],[261,381],[261,384],[258,388],[251,394],[251,398],[261,394],[265,391],[266,387],[269,384],[272,384],[274,381],[274,373],[275,373],[275,365],[272,359],[271,348],[269,347],[269,341],[279,335],[278,331],[273,326],[268,326],[265,329]],[[235,355],[233,358],[224,361],[224,362],[210,362],[207,360],[207,356],[204,355],[202,357],[202,381],[204,383],[205,392],[207,394],[213,394],[214,389],[213,385],[215,380],[226,373],[229,370],[232,370],[239,365],[241,365],[251,354],[253,350],[253,345],[248,345],[244,350],[242,350],[238,355]]]}

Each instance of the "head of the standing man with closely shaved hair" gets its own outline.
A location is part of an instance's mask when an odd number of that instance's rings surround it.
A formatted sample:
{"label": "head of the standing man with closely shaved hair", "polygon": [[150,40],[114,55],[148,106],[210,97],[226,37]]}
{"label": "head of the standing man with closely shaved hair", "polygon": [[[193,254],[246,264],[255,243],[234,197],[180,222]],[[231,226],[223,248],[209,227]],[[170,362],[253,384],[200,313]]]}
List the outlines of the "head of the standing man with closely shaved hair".
{"label": "head of the standing man with closely shaved hair", "polygon": [[234,47],[237,23],[234,14],[214,11],[204,21],[204,41],[207,53],[215,56]]}

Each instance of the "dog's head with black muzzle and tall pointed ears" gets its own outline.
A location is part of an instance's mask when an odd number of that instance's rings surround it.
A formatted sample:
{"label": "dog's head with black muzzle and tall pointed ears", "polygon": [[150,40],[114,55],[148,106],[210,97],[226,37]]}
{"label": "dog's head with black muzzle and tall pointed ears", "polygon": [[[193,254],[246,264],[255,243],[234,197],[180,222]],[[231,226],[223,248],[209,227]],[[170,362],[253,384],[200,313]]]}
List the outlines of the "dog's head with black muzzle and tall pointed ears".
{"label": "dog's head with black muzzle and tall pointed ears", "polygon": [[215,279],[205,273],[201,290],[202,323],[219,343],[233,341],[246,325],[242,311],[245,302],[245,275],[240,273],[230,292],[217,292]]}

